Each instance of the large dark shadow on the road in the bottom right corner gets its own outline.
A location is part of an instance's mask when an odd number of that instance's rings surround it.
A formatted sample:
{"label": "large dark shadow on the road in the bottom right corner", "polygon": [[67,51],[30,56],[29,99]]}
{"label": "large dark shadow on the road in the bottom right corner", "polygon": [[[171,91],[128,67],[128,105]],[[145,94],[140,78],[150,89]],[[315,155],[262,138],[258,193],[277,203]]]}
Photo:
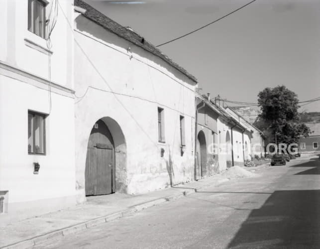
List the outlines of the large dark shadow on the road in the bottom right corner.
{"label": "large dark shadow on the road in the bottom right corner", "polygon": [[275,191],[228,248],[320,248],[320,190]]}

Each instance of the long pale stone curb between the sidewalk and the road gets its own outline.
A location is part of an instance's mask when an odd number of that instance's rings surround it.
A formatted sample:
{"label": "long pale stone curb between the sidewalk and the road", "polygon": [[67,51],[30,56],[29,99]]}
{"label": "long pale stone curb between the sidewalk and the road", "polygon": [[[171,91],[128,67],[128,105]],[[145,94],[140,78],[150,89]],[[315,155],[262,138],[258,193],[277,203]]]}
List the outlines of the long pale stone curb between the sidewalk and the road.
{"label": "long pale stone curb between the sidewalk and the road", "polygon": [[[220,184],[225,181],[227,181],[227,180],[226,179],[218,180],[214,185]],[[27,240],[24,240],[21,242],[7,245],[4,247],[1,247],[0,249],[28,249],[28,248],[32,248],[33,246],[39,245],[39,244],[44,243],[44,242],[51,240],[51,239],[56,239],[59,237],[67,236],[69,234],[74,234],[74,233],[77,233],[80,231],[84,231],[86,229],[98,226],[100,224],[107,223],[107,222],[110,222],[110,221],[113,221],[116,219],[120,219],[120,218],[129,216],[129,215],[132,215],[136,212],[140,212],[143,209],[147,209],[147,208],[153,207],[155,205],[163,204],[168,201],[178,200],[184,196],[196,193],[199,190],[210,187],[212,185],[213,185],[212,183],[211,184],[204,184],[204,185],[196,187],[196,188],[192,188],[192,189],[185,190],[183,192],[179,192],[178,194],[175,194],[175,195],[171,195],[168,197],[159,198],[159,199],[152,200],[152,201],[149,201],[146,203],[138,204],[136,206],[129,207],[128,209],[125,209],[125,210],[122,210],[122,211],[119,211],[119,212],[116,212],[113,214],[102,216],[102,217],[99,217],[99,218],[96,218],[93,220],[89,220],[89,221],[86,221],[86,222],[83,222],[80,224],[73,225],[71,227],[55,230],[55,231],[49,232],[45,235],[39,235],[39,236],[36,236],[31,239],[27,239]]]}

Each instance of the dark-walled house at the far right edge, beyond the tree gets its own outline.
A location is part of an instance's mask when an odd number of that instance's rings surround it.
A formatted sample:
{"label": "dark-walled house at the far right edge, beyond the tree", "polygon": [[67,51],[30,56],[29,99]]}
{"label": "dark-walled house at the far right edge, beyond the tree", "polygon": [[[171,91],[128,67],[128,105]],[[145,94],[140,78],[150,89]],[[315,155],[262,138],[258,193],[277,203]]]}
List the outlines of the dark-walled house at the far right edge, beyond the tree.
{"label": "dark-walled house at the far right edge, beyond the tree", "polygon": [[301,153],[320,152],[320,123],[306,124],[311,133],[308,137],[300,137],[299,150]]}

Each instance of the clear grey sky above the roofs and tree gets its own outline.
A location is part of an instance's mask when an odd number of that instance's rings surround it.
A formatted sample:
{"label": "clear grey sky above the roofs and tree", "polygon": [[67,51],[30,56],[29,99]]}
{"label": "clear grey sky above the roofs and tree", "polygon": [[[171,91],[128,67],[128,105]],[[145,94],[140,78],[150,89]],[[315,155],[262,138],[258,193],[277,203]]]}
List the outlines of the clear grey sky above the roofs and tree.
{"label": "clear grey sky above the roofs and tree", "polygon": [[[154,45],[188,33],[250,0],[85,0]],[[257,103],[285,85],[300,101],[320,97],[320,0],[256,0],[159,47],[199,81],[201,93]],[[320,112],[320,101],[300,111]]]}

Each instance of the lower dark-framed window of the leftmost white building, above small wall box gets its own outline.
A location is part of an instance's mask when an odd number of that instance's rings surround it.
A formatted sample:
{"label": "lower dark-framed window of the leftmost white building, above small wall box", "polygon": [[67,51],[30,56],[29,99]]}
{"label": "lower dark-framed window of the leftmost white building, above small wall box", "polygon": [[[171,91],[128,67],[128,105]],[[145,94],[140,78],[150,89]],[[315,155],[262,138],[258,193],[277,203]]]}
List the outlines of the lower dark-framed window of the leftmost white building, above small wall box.
{"label": "lower dark-framed window of the leftmost white building, above small wall box", "polygon": [[45,154],[46,115],[28,111],[28,153]]}

